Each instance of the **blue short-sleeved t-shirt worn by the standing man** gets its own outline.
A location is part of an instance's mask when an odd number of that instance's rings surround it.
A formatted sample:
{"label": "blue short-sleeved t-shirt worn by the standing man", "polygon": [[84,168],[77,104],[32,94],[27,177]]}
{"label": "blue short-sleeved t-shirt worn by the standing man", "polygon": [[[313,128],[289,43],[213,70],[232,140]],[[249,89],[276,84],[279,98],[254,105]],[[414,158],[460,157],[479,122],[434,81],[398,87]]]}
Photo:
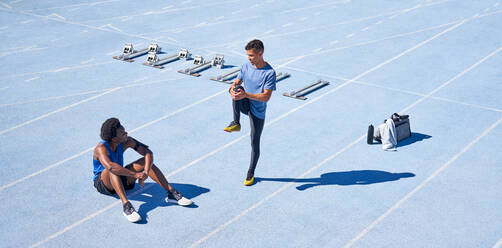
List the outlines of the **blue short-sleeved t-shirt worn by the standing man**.
{"label": "blue short-sleeved t-shirt worn by the standing man", "polygon": [[[244,90],[252,94],[263,93],[263,90],[275,90],[275,71],[268,63],[265,67],[257,69],[248,61],[241,66],[237,78],[243,82]],[[251,99],[249,103],[251,113],[260,119],[265,119],[267,103]]]}

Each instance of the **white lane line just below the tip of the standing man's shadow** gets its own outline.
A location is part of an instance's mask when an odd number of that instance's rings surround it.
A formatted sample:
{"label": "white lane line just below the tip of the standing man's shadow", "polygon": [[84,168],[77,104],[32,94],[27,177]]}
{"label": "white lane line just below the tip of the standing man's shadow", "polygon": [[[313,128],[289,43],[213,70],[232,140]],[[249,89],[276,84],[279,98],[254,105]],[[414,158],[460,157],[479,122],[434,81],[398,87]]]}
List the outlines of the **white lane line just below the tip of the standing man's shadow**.
{"label": "white lane line just below the tip of the standing man's shadow", "polygon": [[464,154],[466,151],[468,151],[473,145],[475,145],[479,140],[481,140],[483,137],[485,137],[491,130],[493,130],[495,127],[497,127],[500,123],[502,122],[502,118],[493,123],[488,129],[486,129],[481,135],[476,137],[471,143],[469,143],[467,146],[465,146],[459,153],[455,154],[448,162],[443,164],[439,169],[434,171],[432,175],[430,175],[425,181],[423,181],[420,185],[418,185],[415,189],[413,189],[410,193],[408,193],[405,197],[403,197],[401,200],[399,200],[394,206],[392,206],[389,210],[387,210],[384,214],[382,214],[380,217],[378,217],[371,225],[366,227],[361,233],[359,233],[354,239],[352,239],[349,243],[347,243],[344,247],[348,248],[351,247],[355,242],[357,242],[359,239],[361,239],[364,235],[366,235],[371,229],[373,229],[378,223],[380,223],[385,217],[390,215],[394,210],[399,208],[406,200],[411,198],[414,194],[416,194],[420,189],[422,189],[428,182],[430,182],[432,179],[434,179],[439,173],[441,173],[443,170],[445,170],[450,164],[455,162],[462,154]]}

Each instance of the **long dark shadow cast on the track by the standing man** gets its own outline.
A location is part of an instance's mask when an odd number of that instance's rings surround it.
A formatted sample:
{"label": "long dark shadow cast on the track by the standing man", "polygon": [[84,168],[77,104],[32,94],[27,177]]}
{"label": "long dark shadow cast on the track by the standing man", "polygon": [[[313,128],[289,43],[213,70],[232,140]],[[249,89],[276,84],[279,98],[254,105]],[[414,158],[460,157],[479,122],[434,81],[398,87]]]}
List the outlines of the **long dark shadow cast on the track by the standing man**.
{"label": "long dark shadow cast on the track by the standing man", "polygon": [[300,186],[297,186],[296,189],[306,190],[321,185],[342,185],[342,186],[365,185],[365,184],[396,181],[401,178],[414,177],[414,176],[415,174],[409,172],[391,173],[378,170],[358,170],[358,171],[325,173],[322,174],[319,178],[256,178],[256,181],[305,183]]}

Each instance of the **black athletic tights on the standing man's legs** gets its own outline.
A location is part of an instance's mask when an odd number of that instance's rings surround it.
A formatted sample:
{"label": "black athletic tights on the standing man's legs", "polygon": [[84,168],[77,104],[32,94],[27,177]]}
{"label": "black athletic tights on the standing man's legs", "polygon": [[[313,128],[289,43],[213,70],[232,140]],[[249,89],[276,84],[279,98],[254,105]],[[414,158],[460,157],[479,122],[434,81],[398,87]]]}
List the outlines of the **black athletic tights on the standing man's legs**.
{"label": "black athletic tights on the standing man's legs", "polygon": [[249,116],[249,122],[251,124],[251,162],[249,163],[247,175],[247,178],[250,179],[254,176],[254,170],[256,169],[256,164],[258,164],[258,158],[260,158],[260,136],[263,131],[265,120],[251,113],[249,99],[247,98],[238,101],[232,100],[232,106],[234,108],[234,122],[240,123],[242,112]]}

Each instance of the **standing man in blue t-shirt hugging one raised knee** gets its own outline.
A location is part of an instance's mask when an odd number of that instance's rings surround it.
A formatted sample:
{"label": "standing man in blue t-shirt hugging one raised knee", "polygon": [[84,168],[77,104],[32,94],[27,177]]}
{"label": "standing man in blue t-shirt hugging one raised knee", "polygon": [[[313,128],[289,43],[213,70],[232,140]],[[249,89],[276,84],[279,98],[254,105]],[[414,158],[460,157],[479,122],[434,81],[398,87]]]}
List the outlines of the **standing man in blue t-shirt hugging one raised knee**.
{"label": "standing man in blue t-shirt hugging one raised knee", "polygon": [[[249,116],[251,123],[251,162],[244,185],[254,182],[254,172],[260,157],[260,136],[265,124],[267,102],[275,90],[275,71],[263,60],[263,42],[252,40],[246,45],[249,62],[242,65],[235,82],[230,86],[234,120],[223,130],[241,130],[240,113]],[[244,87],[241,86],[244,83]]]}

